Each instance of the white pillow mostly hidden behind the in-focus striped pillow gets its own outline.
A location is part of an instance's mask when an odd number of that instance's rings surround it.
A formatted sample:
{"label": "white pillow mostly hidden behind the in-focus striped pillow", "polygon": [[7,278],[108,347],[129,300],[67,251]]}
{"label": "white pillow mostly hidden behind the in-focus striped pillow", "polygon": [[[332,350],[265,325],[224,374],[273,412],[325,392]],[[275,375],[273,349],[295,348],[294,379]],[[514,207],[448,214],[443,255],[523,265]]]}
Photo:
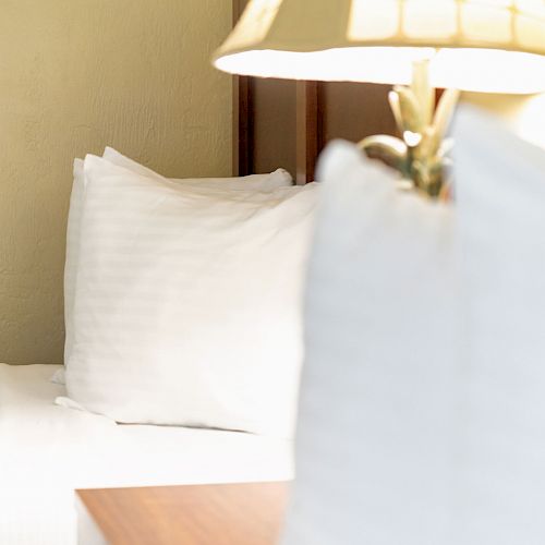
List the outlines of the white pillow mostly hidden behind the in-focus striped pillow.
{"label": "white pillow mostly hidden behind the in-focus striped pillow", "polygon": [[[136,161],[129,159],[111,147],[107,147],[104,153],[105,159],[113,165],[124,167],[136,173],[157,178],[158,174],[153,170],[138,165]],[[83,171],[83,160],[74,160],[74,183],[72,186],[72,194],[70,197],[70,211],[66,228],[66,261],[64,266],[64,323],[66,341],[64,347],[64,362],[69,361],[72,356],[72,342],[73,342],[73,308],[74,308],[74,293],[75,293],[75,279],[80,255],[80,229],[81,218],[83,210],[83,203],[85,198],[85,177]],[[284,169],[278,169],[268,174],[252,174],[241,178],[193,178],[193,179],[173,179],[173,182],[196,185],[206,189],[228,189],[237,190],[255,190],[269,192],[278,187],[288,187],[293,184],[293,179]],[[61,374],[57,379],[62,380]]]}

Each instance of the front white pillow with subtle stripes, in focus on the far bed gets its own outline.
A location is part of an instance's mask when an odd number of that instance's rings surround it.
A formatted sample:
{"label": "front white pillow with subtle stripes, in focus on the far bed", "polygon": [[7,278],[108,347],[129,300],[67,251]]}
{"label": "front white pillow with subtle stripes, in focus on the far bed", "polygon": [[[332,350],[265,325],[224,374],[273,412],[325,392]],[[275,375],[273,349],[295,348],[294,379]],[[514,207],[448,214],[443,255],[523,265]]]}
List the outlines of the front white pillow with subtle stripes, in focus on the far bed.
{"label": "front white pillow with subtle stripes, in focus on the far bed", "polygon": [[317,189],[209,190],[87,157],[69,396],[119,422],[289,436]]}

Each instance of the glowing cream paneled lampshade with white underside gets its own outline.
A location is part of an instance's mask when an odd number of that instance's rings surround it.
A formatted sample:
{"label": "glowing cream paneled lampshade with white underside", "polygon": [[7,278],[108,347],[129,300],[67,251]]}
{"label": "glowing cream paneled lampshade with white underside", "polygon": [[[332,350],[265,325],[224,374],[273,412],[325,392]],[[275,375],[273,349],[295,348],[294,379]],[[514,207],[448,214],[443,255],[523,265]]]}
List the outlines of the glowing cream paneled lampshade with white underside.
{"label": "glowing cream paneled lampshade with white underside", "polygon": [[230,73],[436,87],[545,90],[545,0],[251,0],[215,55]]}

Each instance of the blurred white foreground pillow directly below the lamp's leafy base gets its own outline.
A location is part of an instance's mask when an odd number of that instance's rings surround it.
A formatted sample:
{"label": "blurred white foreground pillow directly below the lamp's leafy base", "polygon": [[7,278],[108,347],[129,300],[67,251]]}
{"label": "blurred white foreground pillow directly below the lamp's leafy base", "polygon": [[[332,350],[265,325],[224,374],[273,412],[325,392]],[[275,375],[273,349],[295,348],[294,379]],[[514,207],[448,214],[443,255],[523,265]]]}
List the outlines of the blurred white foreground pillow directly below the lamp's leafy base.
{"label": "blurred white foreground pillow directly below the lamp's leafy base", "polygon": [[331,144],[306,301],[288,545],[445,544],[453,216]]}

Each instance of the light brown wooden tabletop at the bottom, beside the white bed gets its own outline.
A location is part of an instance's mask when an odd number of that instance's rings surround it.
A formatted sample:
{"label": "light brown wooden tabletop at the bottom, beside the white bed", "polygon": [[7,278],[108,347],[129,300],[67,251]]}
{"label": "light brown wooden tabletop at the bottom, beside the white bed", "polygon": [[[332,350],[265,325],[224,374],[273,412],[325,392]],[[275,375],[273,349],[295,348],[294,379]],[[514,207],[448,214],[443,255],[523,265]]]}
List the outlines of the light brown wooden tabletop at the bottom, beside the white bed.
{"label": "light brown wooden tabletop at the bottom, beside the white bed", "polygon": [[111,545],[275,545],[287,483],[77,491]]}

